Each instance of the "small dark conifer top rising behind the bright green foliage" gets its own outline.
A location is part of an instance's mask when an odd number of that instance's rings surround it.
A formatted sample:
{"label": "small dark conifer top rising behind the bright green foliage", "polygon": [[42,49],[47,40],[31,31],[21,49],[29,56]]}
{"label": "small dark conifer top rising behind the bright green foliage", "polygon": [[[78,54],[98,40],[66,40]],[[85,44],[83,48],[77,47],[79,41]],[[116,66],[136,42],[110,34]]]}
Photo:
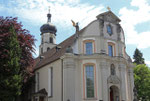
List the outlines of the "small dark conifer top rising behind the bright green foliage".
{"label": "small dark conifer top rising behind the bright green foliage", "polygon": [[143,58],[143,54],[137,48],[134,51],[133,59],[134,59],[134,63],[136,63],[137,65],[145,63],[144,58]]}

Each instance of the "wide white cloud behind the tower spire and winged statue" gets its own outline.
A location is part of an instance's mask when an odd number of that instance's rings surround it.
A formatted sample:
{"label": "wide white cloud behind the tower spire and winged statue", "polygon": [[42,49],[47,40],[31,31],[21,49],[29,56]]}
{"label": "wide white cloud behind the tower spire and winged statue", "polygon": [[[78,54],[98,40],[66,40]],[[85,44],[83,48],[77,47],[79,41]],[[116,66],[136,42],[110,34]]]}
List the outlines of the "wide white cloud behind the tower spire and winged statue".
{"label": "wide white cloud behind the tower spire and winged statue", "polygon": [[[17,6],[11,7],[12,4],[17,4]],[[83,27],[94,20],[104,8],[102,5],[81,4],[79,0],[12,0],[9,5],[11,8],[5,9],[10,14],[15,14],[33,25],[42,25],[46,22],[46,14],[50,6],[52,23],[62,27],[72,26],[71,19],[79,22]]]}

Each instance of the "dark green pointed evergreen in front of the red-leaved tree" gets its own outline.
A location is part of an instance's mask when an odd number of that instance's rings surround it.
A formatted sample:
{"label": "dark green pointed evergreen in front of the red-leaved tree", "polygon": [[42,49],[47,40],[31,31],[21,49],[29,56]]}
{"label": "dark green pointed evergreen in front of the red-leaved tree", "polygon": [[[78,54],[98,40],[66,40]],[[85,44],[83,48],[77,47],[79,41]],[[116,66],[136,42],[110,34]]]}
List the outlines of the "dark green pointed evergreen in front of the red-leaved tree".
{"label": "dark green pointed evergreen in front of the red-leaved tree", "polygon": [[17,40],[16,32],[13,26],[10,27],[11,33],[6,37],[5,50],[8,58],[4,58],[0,65],[0,100],[15,101],[15,97],[21,92],[20,54],[21,49]]}

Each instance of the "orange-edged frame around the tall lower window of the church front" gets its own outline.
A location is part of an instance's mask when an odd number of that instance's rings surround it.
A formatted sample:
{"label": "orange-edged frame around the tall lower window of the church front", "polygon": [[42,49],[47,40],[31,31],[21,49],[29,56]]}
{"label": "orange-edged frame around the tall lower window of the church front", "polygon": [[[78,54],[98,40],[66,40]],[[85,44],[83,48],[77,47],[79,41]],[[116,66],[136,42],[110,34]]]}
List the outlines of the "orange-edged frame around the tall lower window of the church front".
{"label": "orange-edged frame around the tall lower window of the church front", "polygon": [[[87,97],[87,82],[86,82],[86,67],[93,67],[93,76],[94,76],[94,97]],[[83,99],[97,99],[97,84],[96,84],[96,66],[94,63],[83,64]]]}

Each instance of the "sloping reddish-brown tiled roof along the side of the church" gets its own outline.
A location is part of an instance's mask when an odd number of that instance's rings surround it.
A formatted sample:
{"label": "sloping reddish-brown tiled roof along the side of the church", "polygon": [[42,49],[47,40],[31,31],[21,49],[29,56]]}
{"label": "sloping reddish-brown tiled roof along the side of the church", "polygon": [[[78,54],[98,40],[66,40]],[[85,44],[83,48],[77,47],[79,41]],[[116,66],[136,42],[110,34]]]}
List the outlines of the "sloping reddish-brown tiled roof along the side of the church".
{"label": "sloping reddish-brown tiled roof along the side of the church", "polygon": [[[66,52],[66,48],[73,44],[73,42],[76,39],[76,35],[77,34],[72,35],[68,39],[64,40],[63,42],[61,42],[57,46],[50,49],[49,51],[41,54],[41,56],[43,56],[43,59],[40,59],[40,56],[37,57],[35,59],[34,71],[47,65],[47,64],[49,64],[49,63],[52,63],[52,62],[60,59],[60,57],[63,56],[64,53]],[[56,47],[61,47],[61,48],[59,50],[57,50]]]}

